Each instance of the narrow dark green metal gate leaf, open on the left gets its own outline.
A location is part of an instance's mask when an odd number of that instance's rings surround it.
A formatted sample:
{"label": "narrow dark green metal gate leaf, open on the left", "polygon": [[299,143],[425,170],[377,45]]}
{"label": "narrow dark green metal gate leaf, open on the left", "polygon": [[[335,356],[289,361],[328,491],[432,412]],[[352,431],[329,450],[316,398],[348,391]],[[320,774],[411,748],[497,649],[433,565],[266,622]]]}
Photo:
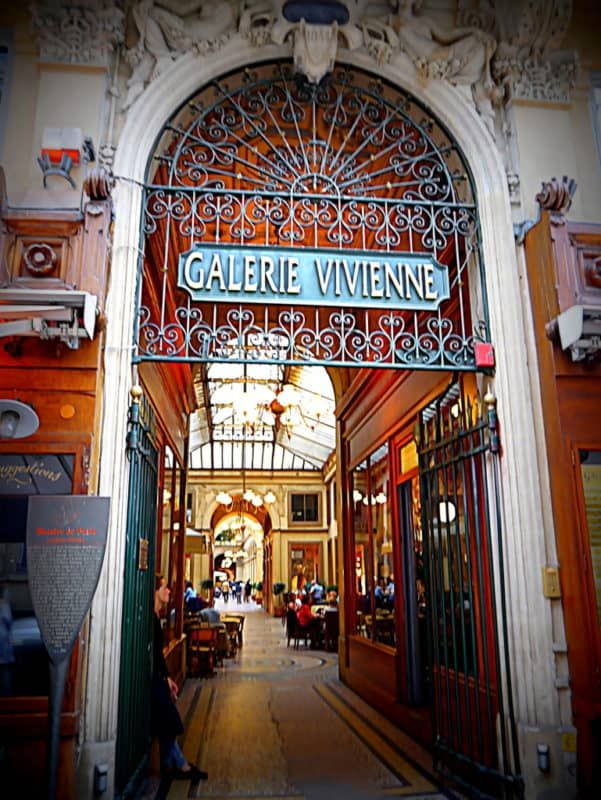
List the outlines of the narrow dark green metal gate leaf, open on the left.
{"label": "narrow dark green metal gate leaf, open on the left", "polygon": [[116,796],[133,796],[148,761],[152,677],[152,600],[157,518],[158,450],[150,406],[129,409],[130,461],[125,544]]}

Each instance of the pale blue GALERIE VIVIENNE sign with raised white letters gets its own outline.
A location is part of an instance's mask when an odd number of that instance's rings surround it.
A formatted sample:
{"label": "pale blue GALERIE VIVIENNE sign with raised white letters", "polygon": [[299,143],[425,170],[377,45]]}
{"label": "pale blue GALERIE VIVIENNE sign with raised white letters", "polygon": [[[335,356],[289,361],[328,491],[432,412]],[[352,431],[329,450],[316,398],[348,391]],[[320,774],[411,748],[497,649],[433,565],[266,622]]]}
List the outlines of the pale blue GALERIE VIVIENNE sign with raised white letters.
{"label": "pale blue GALERIE VIVIENNE sign with raised white letters", "polygon": [[198,245],[179,257],[178,286],[194,300],[437,309],[447,267],[427,253]]}

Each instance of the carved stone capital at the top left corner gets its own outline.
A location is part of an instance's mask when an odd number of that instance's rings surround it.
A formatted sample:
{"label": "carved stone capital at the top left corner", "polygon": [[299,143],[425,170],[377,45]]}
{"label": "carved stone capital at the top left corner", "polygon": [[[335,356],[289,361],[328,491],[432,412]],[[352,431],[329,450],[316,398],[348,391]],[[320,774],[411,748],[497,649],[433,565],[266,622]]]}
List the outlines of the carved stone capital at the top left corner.
{"label": "carved stone capital at the top left corner", "polygon": [[105,66],[124,39],[116,0],[46,0],[34,3],[31,15],[43,61]]}

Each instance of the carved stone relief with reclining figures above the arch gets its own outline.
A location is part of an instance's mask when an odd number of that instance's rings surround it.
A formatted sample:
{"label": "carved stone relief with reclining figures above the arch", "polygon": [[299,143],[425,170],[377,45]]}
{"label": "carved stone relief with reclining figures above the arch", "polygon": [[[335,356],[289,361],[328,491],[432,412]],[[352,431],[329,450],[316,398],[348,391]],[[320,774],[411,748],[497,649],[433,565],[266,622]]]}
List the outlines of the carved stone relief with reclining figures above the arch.
{"label": "carved stone relief with reclining figures above the arch", "polygon": [[[317,0],[40,0],[32,6],[32,21],[42,59],[106,65],[125,41],[126,9],[132,41],[123,50],[129,77],[121,110],[180,56],[206,55],[232,37],[257,48],[289,46],[297,69],[313,82],[332,69],[339,48],[363,49],[377,64],[465,87],[504,153],[510,196],[519,202],[511,104],[569,102],[577,62],[558,48],[572,0],[449,0],[446,23],[425,5],[340,0],[327,4],[337,10],[328,21]],[[113,89],[116,98],[116,84]],[[100,166],[110,170],[114,151],[112,144],[101,145]]]}

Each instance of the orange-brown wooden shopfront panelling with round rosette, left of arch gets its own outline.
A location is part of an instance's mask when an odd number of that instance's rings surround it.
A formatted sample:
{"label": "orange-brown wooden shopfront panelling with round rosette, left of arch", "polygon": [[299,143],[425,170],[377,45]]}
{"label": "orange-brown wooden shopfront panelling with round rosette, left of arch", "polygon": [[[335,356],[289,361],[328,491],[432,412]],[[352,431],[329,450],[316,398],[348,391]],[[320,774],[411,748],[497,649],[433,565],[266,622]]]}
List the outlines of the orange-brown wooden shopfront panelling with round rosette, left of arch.
{"label": "orange-brown wooden shopfront panelling with round rosette, left of arch", "polygon": [[[0,178],[1,183],[1,178]],[[0,280],[31,289],[77,288],[106,294],[110,200],[88,202],[80,211],[3,211]],[[38,254],[39,257],[36,257]],[[2,318],[0,306],[0,319]],[[33,337],[0,340],[0,397],[31,405],[40,420],[26,440],[1,440],[0,453],[74,455],[73,493],[96,491],[102,410],[102,318],[93,341],[70,350]],[[1,499],[0,499],[1,502]],[[75,800],[75,758],[83,703],[82,667],[87,622],[69,665],[58,775],[60,800]],[[0,698],[0,739],[6,743],[3,786],[18,775],[23,797],[44,794],[48,699]]]}

